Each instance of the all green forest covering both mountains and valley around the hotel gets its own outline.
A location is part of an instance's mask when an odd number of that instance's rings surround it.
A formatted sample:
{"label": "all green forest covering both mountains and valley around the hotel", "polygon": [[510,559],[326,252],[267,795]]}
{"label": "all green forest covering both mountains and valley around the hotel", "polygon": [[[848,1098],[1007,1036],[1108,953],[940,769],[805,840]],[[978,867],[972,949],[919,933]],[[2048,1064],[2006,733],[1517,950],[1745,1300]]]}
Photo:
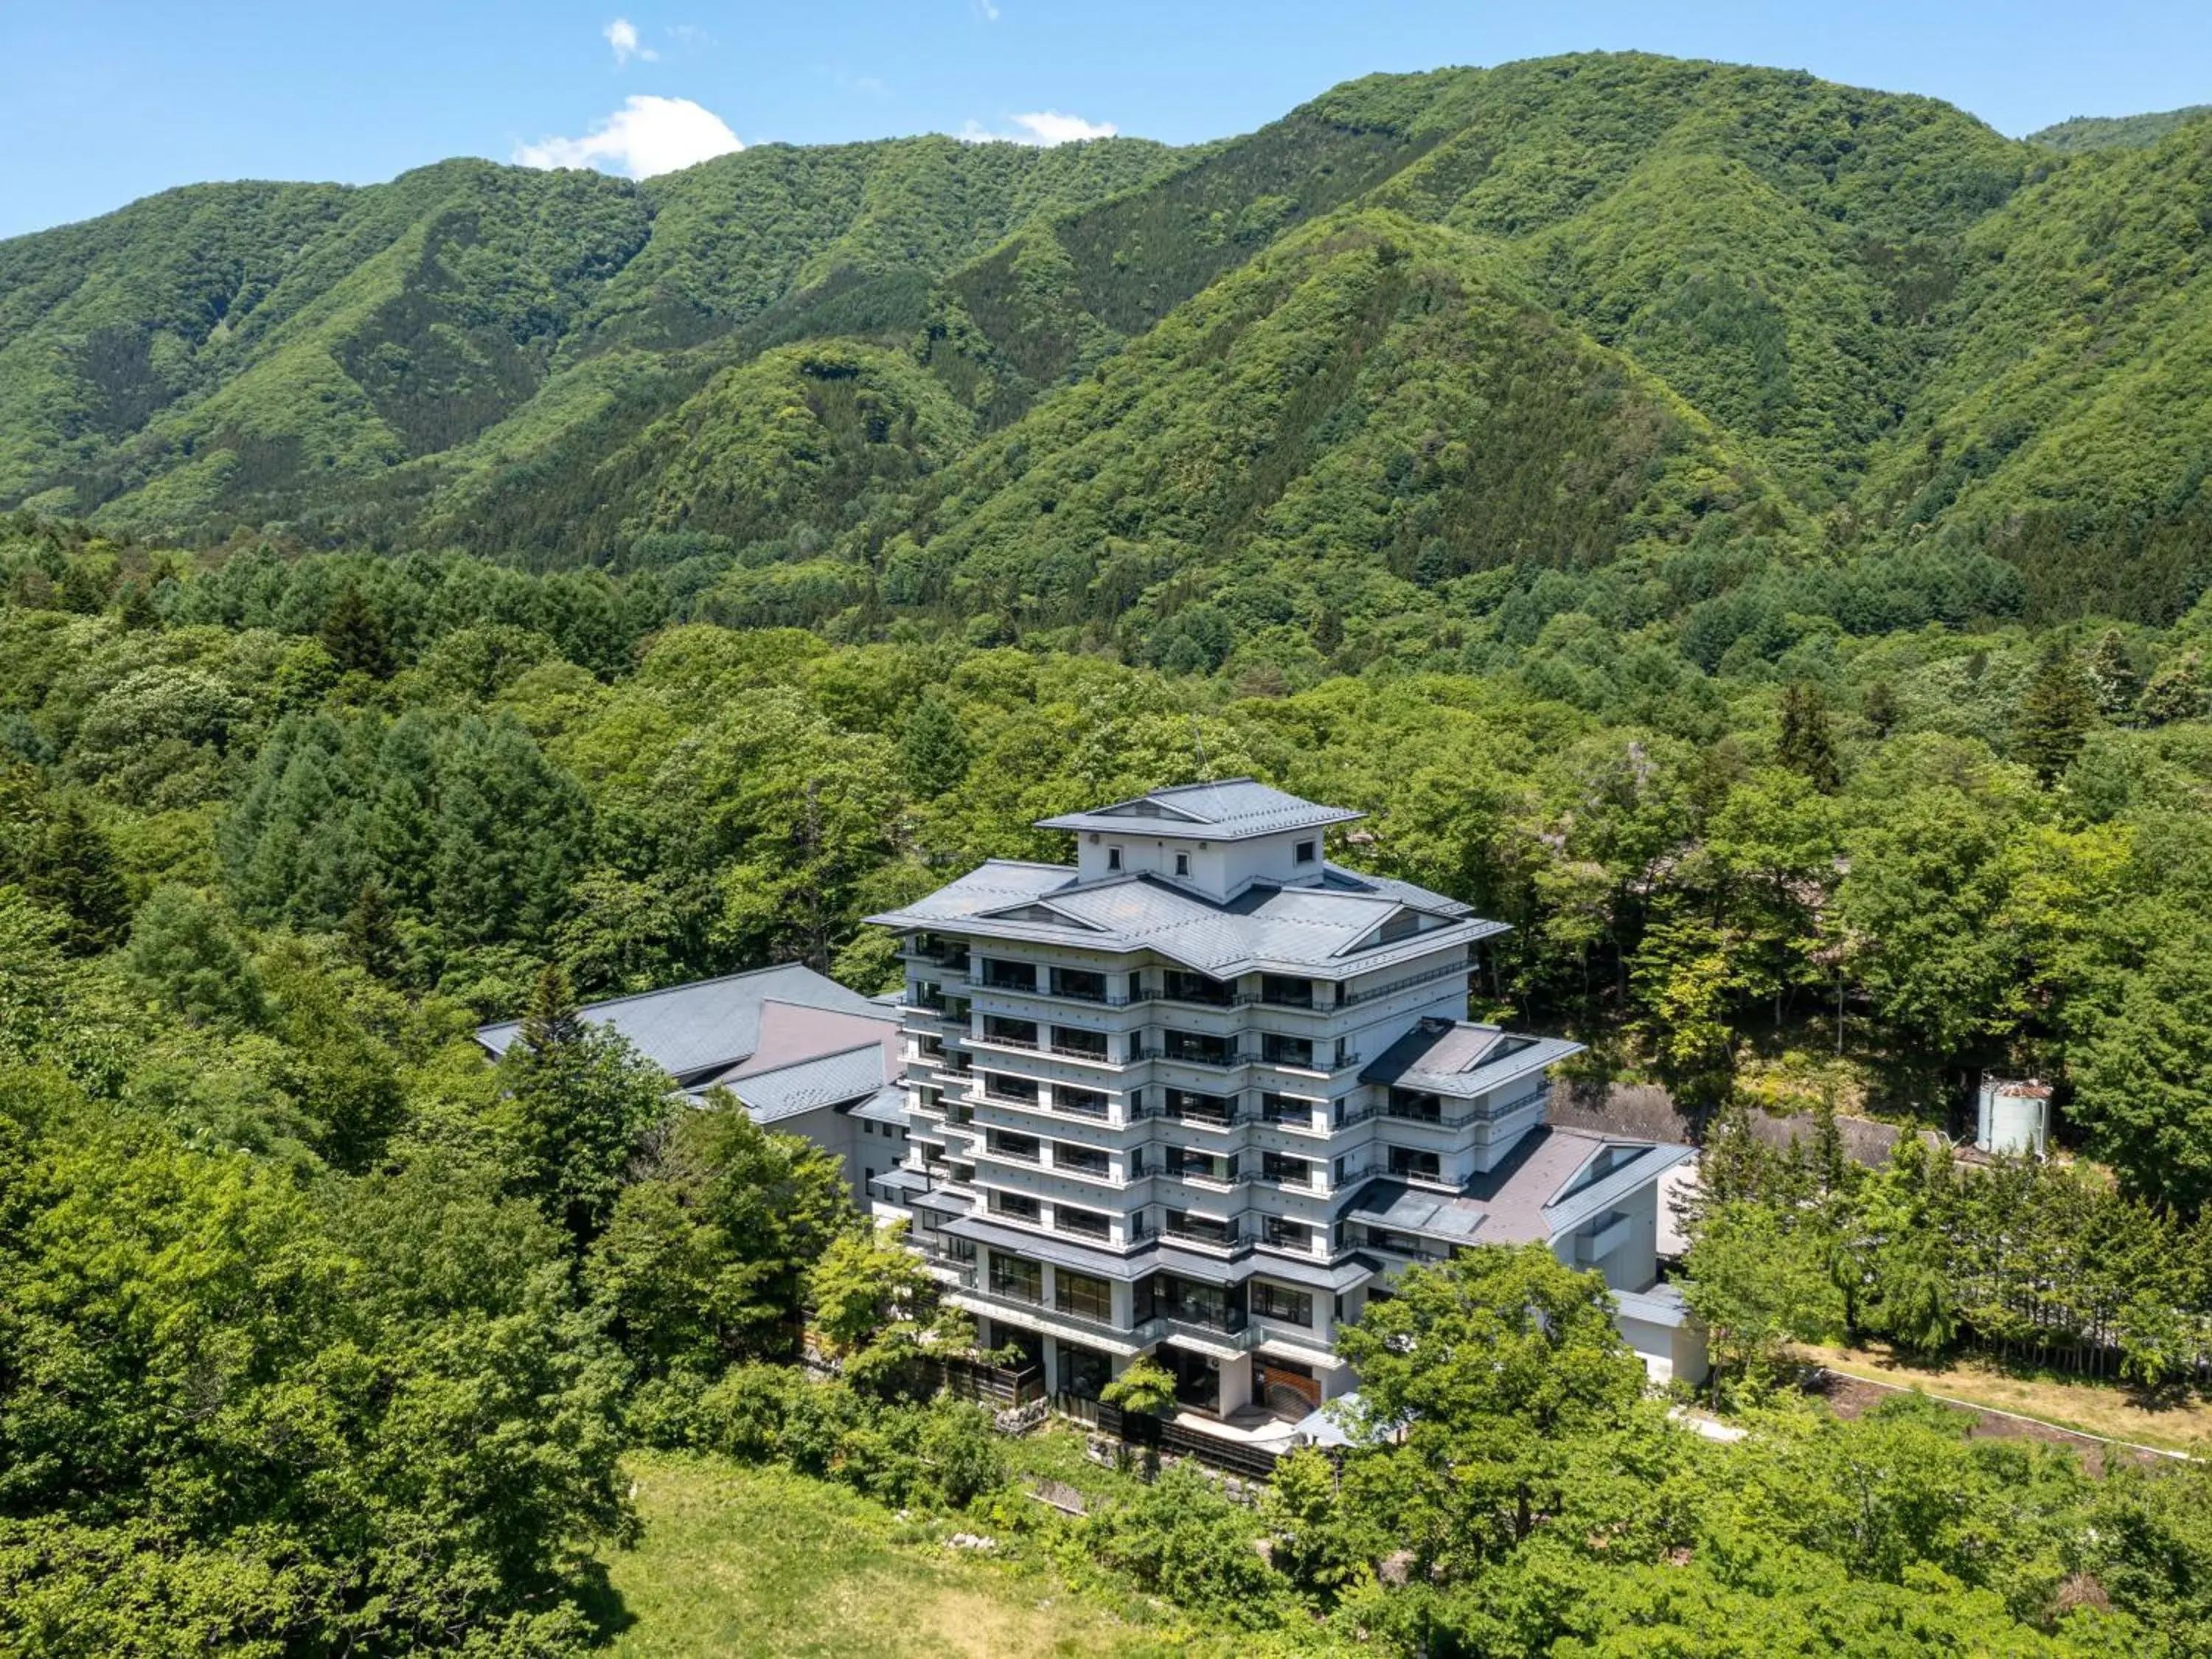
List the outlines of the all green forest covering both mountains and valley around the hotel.
{"label": "all green forest covering both mountains and valley around the hotel", "polygon": [[[0,1655],[599,1650],[639,1458],[1133,1655],[2212,1655],[2205,1460],[1792,1387],[2212,1394],[2212,122],[2068,128],[1588,55],[0,243]],[[1340,1464],[1060,1515],[836,1166],[577,1020],[883,991],[860,918],[1234,774],[1694,1124],[1750,1438],[1482,1248]],[[1982,1071],[2062,1157],[1843,1157]]]}

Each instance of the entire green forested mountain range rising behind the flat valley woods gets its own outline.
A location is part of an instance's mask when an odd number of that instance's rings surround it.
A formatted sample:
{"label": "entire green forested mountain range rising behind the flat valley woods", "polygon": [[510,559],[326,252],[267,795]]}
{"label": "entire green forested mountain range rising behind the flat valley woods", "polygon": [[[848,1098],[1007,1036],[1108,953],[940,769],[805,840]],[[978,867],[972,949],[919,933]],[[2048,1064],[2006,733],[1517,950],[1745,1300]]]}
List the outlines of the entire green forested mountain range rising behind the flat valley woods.
{"label": "entire green forested mountain range rising behind the flat valley woods", "polygon": [[1997,560],[2000,608],[2161,624],[2208,575],[2212,124],[2130,135],[1630,53],[1183,153],[173,192],[0,246],[0,504],[1159,659],[1449,644],[1546,571],[1688,626]]}

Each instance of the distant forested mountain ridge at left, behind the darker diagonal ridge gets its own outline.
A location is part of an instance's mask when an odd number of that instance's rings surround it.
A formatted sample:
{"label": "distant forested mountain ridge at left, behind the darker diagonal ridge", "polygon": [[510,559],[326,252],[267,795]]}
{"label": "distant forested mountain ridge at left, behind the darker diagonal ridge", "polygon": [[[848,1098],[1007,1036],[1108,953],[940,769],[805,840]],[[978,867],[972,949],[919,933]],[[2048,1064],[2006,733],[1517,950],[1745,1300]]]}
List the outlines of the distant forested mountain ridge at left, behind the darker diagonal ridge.
{"label": "distant forested mountain ridge at left, behind the darker diagonal ridge", "polygon": [[557,429],[681,378],[670,347],[812,305],[911,323],[931,272],[1168,155],[900,139],[641,186],[447,161],[153,197],[0,243],[0,495],[148,529],[327,515],[533,400]]}

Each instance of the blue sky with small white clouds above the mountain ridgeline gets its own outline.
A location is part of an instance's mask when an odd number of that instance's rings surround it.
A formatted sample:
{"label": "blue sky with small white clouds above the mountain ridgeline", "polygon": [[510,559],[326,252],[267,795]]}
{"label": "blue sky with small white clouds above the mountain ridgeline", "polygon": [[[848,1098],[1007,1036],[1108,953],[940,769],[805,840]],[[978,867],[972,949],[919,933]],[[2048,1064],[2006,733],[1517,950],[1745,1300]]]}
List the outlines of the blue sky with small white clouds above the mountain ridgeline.
{"label": "blue sky with small white clouds above the mountain ridgeline", "polygon": [[0,0],[0,234],[173,184],[367,184],[447,155],[646,173],[734,142],[1192,142],[1376,69],[1588,49],[1809,69],[2006,133],[2212,102],[2203,0]]}

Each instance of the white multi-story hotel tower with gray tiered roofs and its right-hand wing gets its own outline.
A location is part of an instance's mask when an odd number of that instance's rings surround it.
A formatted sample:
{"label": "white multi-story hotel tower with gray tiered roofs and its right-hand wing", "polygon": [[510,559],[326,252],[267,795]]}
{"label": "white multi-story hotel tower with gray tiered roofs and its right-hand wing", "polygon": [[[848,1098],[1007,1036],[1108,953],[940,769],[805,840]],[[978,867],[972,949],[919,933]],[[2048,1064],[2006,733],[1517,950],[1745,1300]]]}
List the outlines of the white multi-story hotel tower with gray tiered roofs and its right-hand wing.
{"label": "white multi-story hotel tower with gray tiered roofs and its right-hand wing", "polygon": [[1327,860],[1356,812],[1250,779],[1044,818],[876,916],[905,936],[907,1161],[874,1183],[989,1345],[1097,1394],[1152,1354],[1188,1407],[1303,1416],[1338,1323],[1407,1263],[1544,1241],[1615,1287],[1657,1376],[1701,1369],[1657,1276],[1690,1148],[1546,1126],[1577,1051],[1471,1024],[1467,905]]}

